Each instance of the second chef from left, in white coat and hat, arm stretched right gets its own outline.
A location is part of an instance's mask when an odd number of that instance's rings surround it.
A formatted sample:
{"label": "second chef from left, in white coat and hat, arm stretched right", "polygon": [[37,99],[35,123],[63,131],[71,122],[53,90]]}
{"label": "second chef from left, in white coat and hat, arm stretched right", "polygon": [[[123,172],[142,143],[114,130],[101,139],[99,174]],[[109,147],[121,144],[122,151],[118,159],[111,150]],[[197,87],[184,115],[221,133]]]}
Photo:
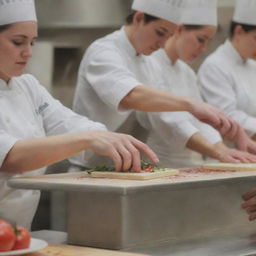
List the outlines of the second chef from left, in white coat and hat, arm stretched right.
{"label": "second chef from left, in white coat and hat, arm stretched right", "polygon": [[[78,74],[74,110],[111,131],[123,131],[133,110],[189,111],[223,134],[234,137],[237,125],[217,109],[188,97],[155,89],[161,75],[151,74],[147,56],[162,47],[179,22],[183,0],[134,0],[135,12],[120,30],[96,40],[86,51]],[[231,123],[230,123],[231,122]],[[130,124],[130,127],[132,125]],[[87,167],[103,161],[92,156]],[[71,162],[77,164],[76,158]]]}

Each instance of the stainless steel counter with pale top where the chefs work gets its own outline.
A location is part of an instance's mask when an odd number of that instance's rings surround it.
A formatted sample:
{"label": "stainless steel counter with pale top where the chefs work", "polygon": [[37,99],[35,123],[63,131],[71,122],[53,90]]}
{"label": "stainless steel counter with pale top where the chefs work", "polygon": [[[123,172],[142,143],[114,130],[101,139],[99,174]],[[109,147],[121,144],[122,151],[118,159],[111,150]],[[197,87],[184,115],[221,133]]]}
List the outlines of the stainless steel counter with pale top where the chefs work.
{"label": "stainless steel counter with pale top where the chefs work", "polygon": [[179,256],[235,256],[256,250],[256,222],[249,222],[240,208],[241,195],[256,186],[255,171],[151,181],[69,173],[9,184],[66,191],[71,244]]}

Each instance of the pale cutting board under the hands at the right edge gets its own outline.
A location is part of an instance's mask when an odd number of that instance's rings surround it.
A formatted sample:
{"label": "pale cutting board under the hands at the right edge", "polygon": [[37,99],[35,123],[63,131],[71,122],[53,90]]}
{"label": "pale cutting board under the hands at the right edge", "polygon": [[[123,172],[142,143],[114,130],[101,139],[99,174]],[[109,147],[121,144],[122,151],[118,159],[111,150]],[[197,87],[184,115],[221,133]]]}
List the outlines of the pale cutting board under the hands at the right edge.
{"label": "pale cutting board under the hands at the right edge", "polygon": [[256,171],[256,164],[253,163],[209,163],[202,166],[205,169],[219,169],[219,170],[230,170],[230,171]]}

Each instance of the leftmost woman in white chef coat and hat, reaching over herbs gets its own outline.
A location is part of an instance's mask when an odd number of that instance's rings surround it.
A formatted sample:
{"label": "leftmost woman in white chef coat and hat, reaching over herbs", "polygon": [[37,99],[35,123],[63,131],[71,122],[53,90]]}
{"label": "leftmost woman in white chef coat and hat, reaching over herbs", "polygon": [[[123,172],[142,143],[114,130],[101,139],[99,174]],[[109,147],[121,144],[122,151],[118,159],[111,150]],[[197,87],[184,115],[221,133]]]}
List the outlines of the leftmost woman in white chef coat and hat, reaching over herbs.
{"label": "leftmost woman in white chef coat and hat, reaching over herbs", "polygon": [[[33,0],[0,1],[0,218],[30,227],[38,191],[8,187],[8,179],[90,149],[111,157],[116,169],[140,169],[139,151],[155,154],[131,136],[107,132],[65,108],[32,75],[22,75],[37,38]],[[81,154],[82,155],[82,154]]]}

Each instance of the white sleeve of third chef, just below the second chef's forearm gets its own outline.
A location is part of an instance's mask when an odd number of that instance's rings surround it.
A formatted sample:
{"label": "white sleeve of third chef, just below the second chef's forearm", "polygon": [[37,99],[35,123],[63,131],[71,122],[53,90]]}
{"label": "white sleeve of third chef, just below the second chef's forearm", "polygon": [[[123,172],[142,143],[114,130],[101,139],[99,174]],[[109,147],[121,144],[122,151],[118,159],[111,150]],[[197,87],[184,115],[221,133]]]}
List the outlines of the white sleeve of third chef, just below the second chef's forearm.
{"label": "white sleeve of third chef, just below the second chef's forearm", "polygon": [[187,112],[140,112],[138,121],[144,128],[149,131],[153,130],[157,136],[168,141],[170,145],[175,145],[177,150],[182,150],[186,147],[190,137],[199,131],[191,123],[189,115]]}

